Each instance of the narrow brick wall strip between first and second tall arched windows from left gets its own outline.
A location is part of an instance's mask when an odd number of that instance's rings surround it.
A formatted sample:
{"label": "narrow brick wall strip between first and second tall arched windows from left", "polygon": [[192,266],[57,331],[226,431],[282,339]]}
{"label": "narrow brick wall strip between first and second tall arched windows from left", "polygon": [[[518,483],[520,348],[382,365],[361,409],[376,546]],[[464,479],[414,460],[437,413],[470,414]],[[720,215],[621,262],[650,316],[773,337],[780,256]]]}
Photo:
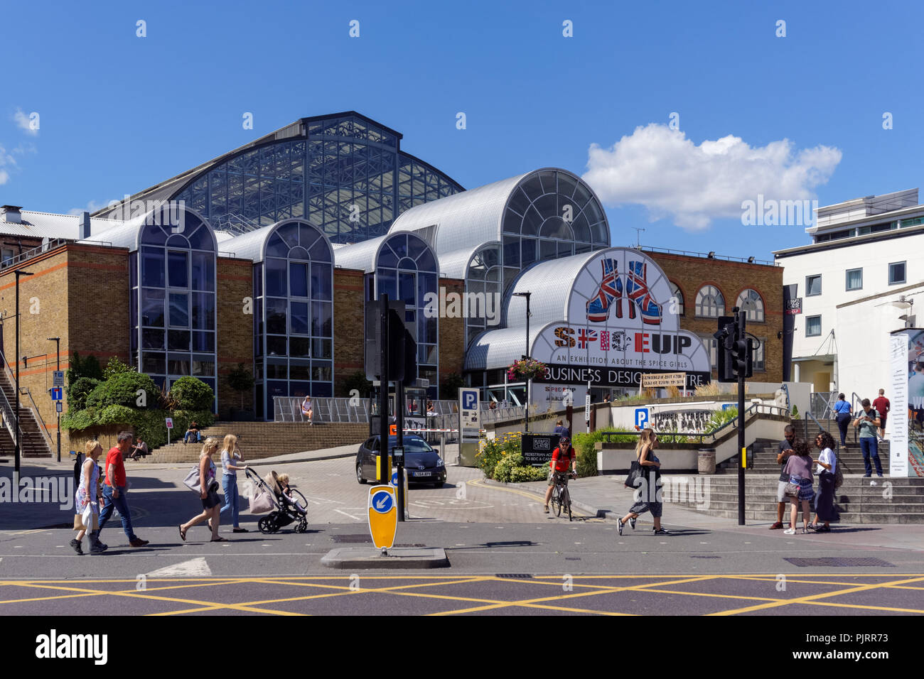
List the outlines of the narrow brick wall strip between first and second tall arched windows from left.
{"label": "narrow brick wall strip between first and second tall arched windows from left", "polygon": [[[218,291],[215,329],[218,354],[218,417],[229,418],[232,408],[253,409],[253,391],[243,395],[231,388],[228,373],[238,363],[253,375],[253,262],[230,257],[217,259]],[[244,299],[249,297],[249,314],[244,313]],[[242,401],[243,398],[243,401]]]}

